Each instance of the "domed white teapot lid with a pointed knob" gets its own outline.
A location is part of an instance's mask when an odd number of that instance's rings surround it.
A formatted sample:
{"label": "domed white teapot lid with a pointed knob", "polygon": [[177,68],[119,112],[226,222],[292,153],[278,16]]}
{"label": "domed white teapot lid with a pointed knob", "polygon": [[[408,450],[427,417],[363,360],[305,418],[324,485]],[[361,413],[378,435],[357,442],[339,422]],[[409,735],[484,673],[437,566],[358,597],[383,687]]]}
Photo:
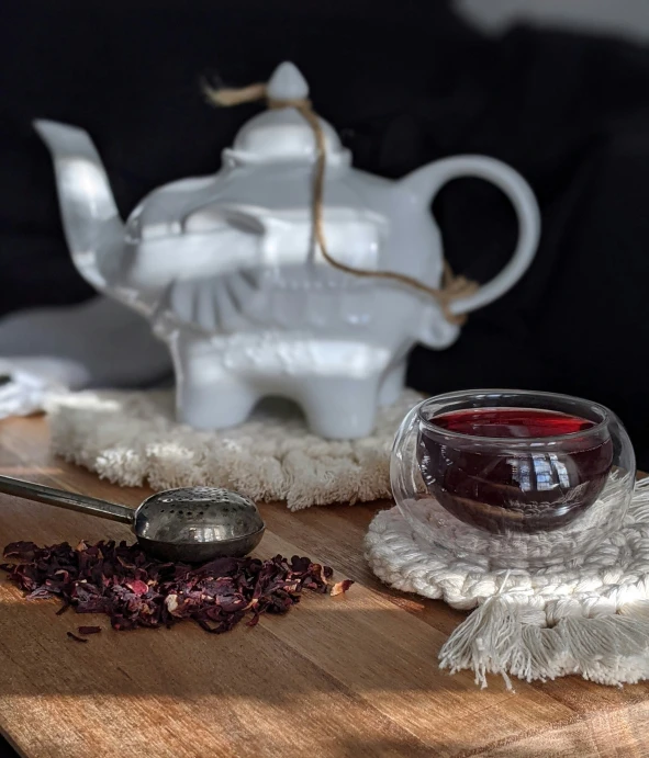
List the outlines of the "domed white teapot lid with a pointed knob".
{"label": "domed white teapot lid with a pointed knob", "polygon": [[[269,100],[306,100],[309,84],[291,63],[277,67],[267,88]],[[327,163],[349,163],[349,150],[343,147],[334,127],[320,118],[324,133]],[[272,108],[250,118],[237,133],[234,145],[224,151],[231,163],[270,163],[276,161],[312,162],[316,158],[315,135],[298,109]]]}

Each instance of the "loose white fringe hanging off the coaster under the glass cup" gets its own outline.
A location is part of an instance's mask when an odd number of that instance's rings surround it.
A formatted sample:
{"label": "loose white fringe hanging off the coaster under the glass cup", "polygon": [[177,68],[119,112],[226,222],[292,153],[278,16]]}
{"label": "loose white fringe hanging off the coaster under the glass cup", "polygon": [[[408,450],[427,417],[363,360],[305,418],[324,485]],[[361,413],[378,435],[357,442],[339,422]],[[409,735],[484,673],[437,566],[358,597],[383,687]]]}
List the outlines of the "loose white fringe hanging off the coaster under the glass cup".
{"label": "loose white fringe hanging off the coaster under the glass cup", "polygon": [[451,674],[473,670],[525,681],[570,674],[622,686],[649,678],[649,601],[638,600],[608,615],[568,616],[547,626],[545,610],[521,603],[516,595],[488,598],[460,624],[439,652],[439,667]]}

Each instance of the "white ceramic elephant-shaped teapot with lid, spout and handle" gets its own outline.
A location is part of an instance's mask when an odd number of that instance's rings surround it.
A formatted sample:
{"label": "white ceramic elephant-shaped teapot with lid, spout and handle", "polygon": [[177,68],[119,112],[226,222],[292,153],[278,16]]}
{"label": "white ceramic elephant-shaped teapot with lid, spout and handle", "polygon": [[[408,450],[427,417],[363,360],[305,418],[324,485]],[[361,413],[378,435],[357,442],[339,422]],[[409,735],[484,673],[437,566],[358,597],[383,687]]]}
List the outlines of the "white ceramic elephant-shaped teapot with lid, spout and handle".
{"label": "white ceramic elephant-shaped teapot with lid, spout and handle", "polygon": [[[267,88],[304,99],[306,82],[282,64]],[[444,258],[433,195],[461,176],[486,179],[511,199],[518,242],[511,261],[460,315],[491,303],[529,265],[539,237],[534,194],[506,165],[480,156],[429,163],[401,181],[351,168],[329,124],[323,219],[328,252],[437,287]],[[326,438],[371,433],[377,406],[396,399],[415,342],[445,348],[459,326],[403,283],[331,267],[313,241],[314,133],[295,108],[268,110],[239,131],[221,170],[159,188],[124,225],[86,132],[35,124],[54,157],[66,237],[97,290],[147,317],[171,351],[182,422],[220,429],[244,421],[270,395],[302,406]]]}

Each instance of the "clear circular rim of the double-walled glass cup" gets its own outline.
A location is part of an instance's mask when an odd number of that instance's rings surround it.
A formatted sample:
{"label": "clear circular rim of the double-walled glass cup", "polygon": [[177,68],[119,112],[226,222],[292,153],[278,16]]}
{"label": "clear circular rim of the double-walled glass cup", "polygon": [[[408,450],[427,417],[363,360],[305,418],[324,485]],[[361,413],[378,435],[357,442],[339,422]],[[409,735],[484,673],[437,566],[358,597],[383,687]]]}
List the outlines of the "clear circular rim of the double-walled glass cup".
{"label": "clear circular rim of the double-walled glass cup", "polygon": [[[538,398],[555,398],[555,399],[561,399],[561,400],[573,400],[577,404],[580,405],[588,405],[590,409],[595,410],[596,412],[601,414],[602,419],[597,423],[595,423],[593,427],[590,429],[584,429],[582,431],[575,431],[575,432],[567,432],[566,434],[555,434],[552,437],[525,437],[525,438],[502,438],[502,437],[488,437],[484,434],[465,434],[463,432],[458,432],[454,431],[450,429],[444,429],[443,427],[438,427],[436,423],[433,423],[429,419],[424,418],[423,411],[424,409],[432,405],[432,404],[438,404],[438,403],[450,403],[452,400],[461,400],[463,398],[466,399],[472,399],[475,397],[480,397],[481,395],[484,395],[485,397],[490,395],[518,395],[518,396],[528,396],[528,397],[538,397]],[[486,406],[489,407],[489,406]],[[497,407],[497,406],[494,406]],[[506,406],[503,406],[506,407]],[[511,406],[515,407],[515,406]],[[443,411],[445,412],[445,411]],[[440,414],[443,415],[443,414]],[[424,426],[426,429],[429,431],[434,431],[436,433],[443,434],[444,437],[450,437],[457,440],[466,440],[466,441],[477,441],[477,442],[491,442],[491,443],[496,443],[496,444],[503,444],[503,445],[544,445],[544,444],[552,444],[556,442],[562,442],[564,440],[570,441],[575,438],[581,438],[583,439],[584,437],[590,437],[590,435],[595,435],[597,432],[601,432],[603,429],[605,429],[612,418],[612,411],[606,407],[603,406],[600,403],[595,403],[594,400],[589,400],[584,397],[578,397],[577,395],[566,395],[563,393],[550,393],[550,392],[536,392],[534,389],[506,389],[506,388],[488,388],[488,389],[459,389],[456,392],[450,392],[450,393],[443,393],[440,395],[435,395],[433,397],[428,397],[425,400],[422,400],[417,407],[417,420],[422,426]]]}

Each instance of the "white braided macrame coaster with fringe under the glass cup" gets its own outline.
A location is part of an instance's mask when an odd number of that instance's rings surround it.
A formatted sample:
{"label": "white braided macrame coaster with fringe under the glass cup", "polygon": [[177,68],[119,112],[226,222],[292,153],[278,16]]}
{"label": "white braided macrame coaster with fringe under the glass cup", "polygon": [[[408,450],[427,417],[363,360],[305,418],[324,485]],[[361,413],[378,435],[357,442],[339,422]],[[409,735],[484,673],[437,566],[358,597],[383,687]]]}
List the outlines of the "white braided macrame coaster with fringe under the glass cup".
{"label": "white braided macrame coaster with fringe under the glass cup", "polygon": [[494,568],[484,543],[457,558],[425,543],[396,508],[379,512],[366,536],[385,584],[478,609],[441,647],[440,668],[472,669],[482,687],[488,672],[500,674],[508,689],[510,676],[577,674],[617,686],[649,678],[649,479],[636,486],[623,528],[582,561]]}

